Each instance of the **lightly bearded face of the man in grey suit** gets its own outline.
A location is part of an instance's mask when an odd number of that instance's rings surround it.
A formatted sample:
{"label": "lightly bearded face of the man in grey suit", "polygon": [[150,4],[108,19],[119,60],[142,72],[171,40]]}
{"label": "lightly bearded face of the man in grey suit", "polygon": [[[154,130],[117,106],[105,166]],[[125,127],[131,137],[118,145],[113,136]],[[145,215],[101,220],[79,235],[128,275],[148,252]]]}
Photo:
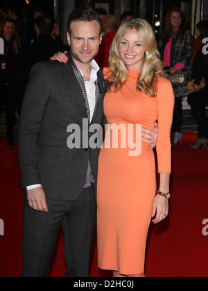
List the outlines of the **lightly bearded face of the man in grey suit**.
{"label": "lightly bearded face of the man in grey suit", "polygon": [[[102,40],[100,26],[96,20],[91,22],[71,22],[71,36],[67,32],[71,55],[78,63],[90,63],[98,53]],[[78,63],[76,64],[78,65]]]}

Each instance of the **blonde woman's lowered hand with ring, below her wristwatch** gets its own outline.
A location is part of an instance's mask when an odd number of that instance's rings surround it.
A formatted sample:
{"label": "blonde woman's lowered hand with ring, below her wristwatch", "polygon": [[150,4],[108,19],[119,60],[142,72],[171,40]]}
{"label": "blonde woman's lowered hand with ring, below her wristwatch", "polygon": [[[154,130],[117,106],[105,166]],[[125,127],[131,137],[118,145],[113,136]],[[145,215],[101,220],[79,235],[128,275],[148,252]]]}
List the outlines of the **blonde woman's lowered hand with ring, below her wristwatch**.
{"label": "blonde woman's lowered hand with ring, below her wristwatch", "polygon": [[[155,214],[156,214],[156,217],[155,217]],[[153,203],[152,217],[155,217],[155,219],[152,220],[153,223],[162,221],[163,219],[166,218],[167,215],[168,215],[168,199],[157,194],[155,196],[155,200]]]}

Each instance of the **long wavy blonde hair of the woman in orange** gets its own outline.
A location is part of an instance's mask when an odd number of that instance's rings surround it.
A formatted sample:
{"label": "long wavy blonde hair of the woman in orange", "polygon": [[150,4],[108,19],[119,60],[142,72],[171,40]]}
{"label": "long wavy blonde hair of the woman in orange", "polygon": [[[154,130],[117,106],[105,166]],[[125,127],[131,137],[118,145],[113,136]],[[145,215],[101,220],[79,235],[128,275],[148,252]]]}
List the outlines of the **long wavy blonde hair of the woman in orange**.
{"label": "long wavy blonde hair of the woman in orange", "polygon": [[110,74],[107,77],[109,81],[107,91],[111,91],[112,86],[116,92],[119,91],[128,78],[125,63],[119,54],[119,45],[125,33],[132,29],[136,29],[145,50],[144,63],[137,80],[137,91],[143,91],[149,96],[156,96],[157,74],[162,74],[163,63],[159,60],[155,33],[150,24],[141,18],[129,19],[123,23],[114,37],[110,47]]}

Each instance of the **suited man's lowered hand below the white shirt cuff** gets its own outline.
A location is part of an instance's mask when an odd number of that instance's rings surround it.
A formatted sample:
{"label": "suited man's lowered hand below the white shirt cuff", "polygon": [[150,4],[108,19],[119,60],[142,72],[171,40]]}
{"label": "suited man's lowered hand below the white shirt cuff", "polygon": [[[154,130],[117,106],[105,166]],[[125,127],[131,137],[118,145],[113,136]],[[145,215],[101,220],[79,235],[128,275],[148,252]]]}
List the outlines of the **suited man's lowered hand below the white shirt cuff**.
{"label": "suited man's lowered hand below the white shirt cuff", "polygon": [[28,204],[37,211],[49,212],[46,204],[46,196],[42,187],[28,190]]}

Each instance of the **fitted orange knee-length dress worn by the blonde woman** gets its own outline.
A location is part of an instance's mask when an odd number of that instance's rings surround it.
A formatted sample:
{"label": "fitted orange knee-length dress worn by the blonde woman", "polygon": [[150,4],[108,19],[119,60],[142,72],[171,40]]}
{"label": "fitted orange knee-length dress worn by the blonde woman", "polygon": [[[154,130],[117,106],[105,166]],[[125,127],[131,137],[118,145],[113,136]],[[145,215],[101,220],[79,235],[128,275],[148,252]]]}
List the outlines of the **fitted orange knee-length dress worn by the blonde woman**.
{"label": "fitted orange knee-length dress worn by the blonde woman", "polygon": [[[167,79],[158,76],[157,97],[149,97],[137,91],[138,75],[128,71],[128,81],[121,90],[105,94],[107,123],[126,128],[132,125],[137,141],[136,124],[153,129],[157,120],[158,171],[171,173],[173,88]],[[155,155],[143,141],[139,155],[130,155],[132,147],[126,142],[124,148],[121,143],[128,141],[128,134],[118,132],[118,147],[112,148],[112,130],[107,129],[98,159],[98,267],[120,274],[140,274],[144,272],[146,237],[156,193]]]}

